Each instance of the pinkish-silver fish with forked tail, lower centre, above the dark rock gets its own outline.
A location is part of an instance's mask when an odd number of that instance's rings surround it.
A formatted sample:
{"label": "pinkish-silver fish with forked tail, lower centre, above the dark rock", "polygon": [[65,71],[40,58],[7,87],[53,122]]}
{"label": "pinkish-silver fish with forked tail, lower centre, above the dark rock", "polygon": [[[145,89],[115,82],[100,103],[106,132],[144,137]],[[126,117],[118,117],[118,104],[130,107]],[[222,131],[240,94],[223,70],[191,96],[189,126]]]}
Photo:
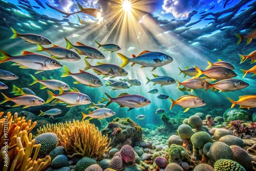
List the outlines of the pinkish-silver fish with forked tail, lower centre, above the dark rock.
{"label": "pinkish-silver fish with forked tail, lower centre, above the dark rock", "polygon": [[119,104],[119,108],[128,107],[128,111],[151,103],[147,98],[136,94],[122,93],[116,98],[111,97],[107,93],[105,93],[105,95],[110,99],[110,101],[106,103],[106,106],[110,105],[112,102],[116,102]]}

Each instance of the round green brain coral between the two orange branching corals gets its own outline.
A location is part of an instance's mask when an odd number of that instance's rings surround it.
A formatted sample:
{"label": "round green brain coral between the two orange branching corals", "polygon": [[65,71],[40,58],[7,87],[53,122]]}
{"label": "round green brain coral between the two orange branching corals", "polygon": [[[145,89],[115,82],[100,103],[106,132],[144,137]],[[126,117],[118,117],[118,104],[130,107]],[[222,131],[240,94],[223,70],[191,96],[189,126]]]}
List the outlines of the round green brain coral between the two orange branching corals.
{"label": "round green brain coral between the two orange branching corals", "polygon": [[39,154],[47,154],[57,146],[58,137],[54,133],[44,133],[35,137],[35,144],[41,144]]}

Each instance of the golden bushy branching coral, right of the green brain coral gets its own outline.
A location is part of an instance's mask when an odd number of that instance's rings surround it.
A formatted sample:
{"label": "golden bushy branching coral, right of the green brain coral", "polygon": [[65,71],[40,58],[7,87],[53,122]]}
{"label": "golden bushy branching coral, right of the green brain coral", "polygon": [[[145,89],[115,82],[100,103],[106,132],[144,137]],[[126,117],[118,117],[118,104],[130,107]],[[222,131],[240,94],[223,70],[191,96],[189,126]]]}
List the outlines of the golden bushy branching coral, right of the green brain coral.
{"label": "golden bushy branching coral, right of the green brain coral", "polygon": [[38,134],[55,133],[59,138],[58,145],[64,146],[70,157],[80,155],[99,160],[111,149],[109,147],[111,139],[108,142],[108,135],[102,136],[98,127],[88,120],[47,124],[40,127],[37,132]]}

